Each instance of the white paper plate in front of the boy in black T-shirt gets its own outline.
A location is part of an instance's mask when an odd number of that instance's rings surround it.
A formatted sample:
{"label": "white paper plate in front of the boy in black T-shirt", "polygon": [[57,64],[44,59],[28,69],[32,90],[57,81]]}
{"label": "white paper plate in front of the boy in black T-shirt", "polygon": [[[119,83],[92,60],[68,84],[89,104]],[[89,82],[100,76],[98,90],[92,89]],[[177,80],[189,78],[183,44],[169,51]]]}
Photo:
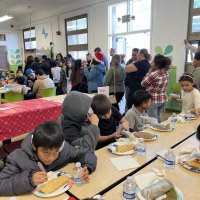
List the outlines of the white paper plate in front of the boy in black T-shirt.
{"label": "white paper plate in front of the boy in black T-shirt", "polygon": [[116,155],[131,155],[133,153],[135,153],[134,149],[133,150],[130,150],[130,151],[126,151],[126,152],[117,152],[116,151],[116,147],[117,146],[120,146],[120,145],[127,145],[127,144],[137,144],[137,142],[133,141],[133,142],[114,142],[112,144],[109,144],[108,145],[108,151],[110,151],[111,153],[113,154],[116,154]]}

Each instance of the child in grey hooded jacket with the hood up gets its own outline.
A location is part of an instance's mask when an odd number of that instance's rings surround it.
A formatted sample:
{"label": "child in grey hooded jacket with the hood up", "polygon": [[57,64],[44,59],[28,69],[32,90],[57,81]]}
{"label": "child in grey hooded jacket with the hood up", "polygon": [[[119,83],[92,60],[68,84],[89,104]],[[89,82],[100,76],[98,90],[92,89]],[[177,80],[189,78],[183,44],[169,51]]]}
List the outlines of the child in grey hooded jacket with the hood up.
{"label": "child in grey hooded jacket with the hood up", "polygon": [[59,121],[65,140],[72,146],[89,147],[95,150],[100,130],[97,115],[89,113],[91,102],[92,99],[83,93],[70,92],[63,102]]}

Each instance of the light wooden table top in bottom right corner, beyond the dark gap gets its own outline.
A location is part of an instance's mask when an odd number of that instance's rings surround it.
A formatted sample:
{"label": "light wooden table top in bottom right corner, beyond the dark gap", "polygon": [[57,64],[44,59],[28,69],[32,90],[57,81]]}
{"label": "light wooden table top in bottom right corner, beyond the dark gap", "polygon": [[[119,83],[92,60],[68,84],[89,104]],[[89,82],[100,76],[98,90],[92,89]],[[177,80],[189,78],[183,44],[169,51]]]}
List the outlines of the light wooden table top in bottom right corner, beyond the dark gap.
{"label": "light wooden table top in bottom right corner, beyond the dark gap", "polygon": [[[199,142],[196,140],[195,136],[190,137],[180,145],[174,148],[174,152],[179,154],[182,147],[194,146],[199,148]],[[135,175],[143,174],[146,172],[151,172],[152,168],[164,169],[163,161],[156,159]],[[200,199],[199,185],[200,185],[200,174],[191,172],[181,165],[177,164],[175,169],[166,170],[166,178],[169,179],[175,186],[177,186],[183,193],[184,200],[197,200]],[[115,197],[115,200],[121,200],[121,195],[123,191],[123,183],[120,183],[107,193],[105,193],[104,199],[110,200]]]}

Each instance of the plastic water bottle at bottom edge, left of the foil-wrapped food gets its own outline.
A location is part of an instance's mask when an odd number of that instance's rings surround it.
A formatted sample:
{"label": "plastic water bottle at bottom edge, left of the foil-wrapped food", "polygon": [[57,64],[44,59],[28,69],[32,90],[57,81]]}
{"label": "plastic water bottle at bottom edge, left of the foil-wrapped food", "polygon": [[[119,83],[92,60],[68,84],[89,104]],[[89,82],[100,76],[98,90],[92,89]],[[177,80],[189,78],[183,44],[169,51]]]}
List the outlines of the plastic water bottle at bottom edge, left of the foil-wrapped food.
{"label": "plastic water bottle at bottom edge, left of the foil-wrapped food", "polygon": [[136,189],[135,181],[133,181],[131,176],[128,176],[123,185],[122,199],[123,200],[134,200],[136,197],[135,189]]}

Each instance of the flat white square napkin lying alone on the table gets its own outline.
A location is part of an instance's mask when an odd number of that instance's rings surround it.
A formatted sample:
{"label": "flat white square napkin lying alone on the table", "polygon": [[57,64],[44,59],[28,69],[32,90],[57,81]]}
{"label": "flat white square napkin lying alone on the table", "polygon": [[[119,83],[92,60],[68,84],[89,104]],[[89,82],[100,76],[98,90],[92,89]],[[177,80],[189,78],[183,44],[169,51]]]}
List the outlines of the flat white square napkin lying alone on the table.
{"label": "flat white square napkin lying alone on the table", "polygon": [[132,156],[120,156],[117,158],[110,158],[117,170],[122,171],[131,168],[139,167],[139,163]]}

